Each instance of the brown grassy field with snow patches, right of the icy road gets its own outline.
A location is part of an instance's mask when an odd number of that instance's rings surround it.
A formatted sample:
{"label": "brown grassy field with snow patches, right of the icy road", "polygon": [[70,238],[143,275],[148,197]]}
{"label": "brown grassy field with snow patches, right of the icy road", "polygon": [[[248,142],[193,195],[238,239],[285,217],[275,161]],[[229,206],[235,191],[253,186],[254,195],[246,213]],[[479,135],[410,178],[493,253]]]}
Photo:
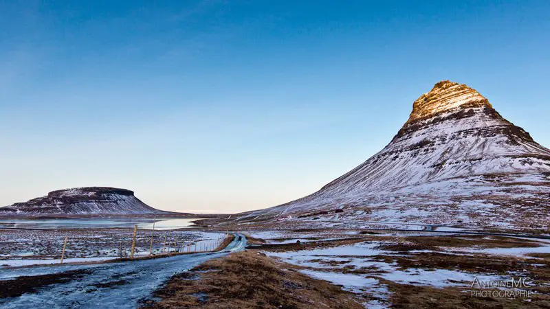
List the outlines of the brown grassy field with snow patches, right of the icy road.
{"label": "brown grassy field with snow patches, right of the icy road", "polygon": [[[325,232],[333,238],[322,235]],[[157,291],[162,300],[147,306],[550,308],[550,255],[537,253],[547,251],[548,242],[500,236],[346,233],[251,231],[252,246],[247,252],[176,275]],[[528,296],[472,294],[480,290],[472,288],[472,278],[512,277],[529,282]]]}

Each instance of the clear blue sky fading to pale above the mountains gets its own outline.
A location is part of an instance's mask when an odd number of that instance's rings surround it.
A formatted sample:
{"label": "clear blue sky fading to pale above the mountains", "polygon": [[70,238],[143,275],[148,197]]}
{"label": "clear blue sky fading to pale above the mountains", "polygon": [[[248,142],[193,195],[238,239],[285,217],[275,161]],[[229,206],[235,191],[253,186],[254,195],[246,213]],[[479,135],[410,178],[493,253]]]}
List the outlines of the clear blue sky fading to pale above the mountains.
{"label": "clear blue sky fading to pale above the mountains", "polygon": [[439,80],[550,146],[549,1],[2,1],[0,205],[234,212],[382,149]]}

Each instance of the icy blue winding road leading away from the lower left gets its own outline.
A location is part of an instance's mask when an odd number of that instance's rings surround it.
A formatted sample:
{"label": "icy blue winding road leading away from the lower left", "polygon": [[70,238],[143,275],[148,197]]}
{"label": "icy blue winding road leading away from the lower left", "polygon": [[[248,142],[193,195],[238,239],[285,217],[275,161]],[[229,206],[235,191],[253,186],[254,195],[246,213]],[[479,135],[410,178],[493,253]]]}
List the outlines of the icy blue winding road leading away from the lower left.
{"label": "icy blue winding road leading away from the lower left", "polygon": [[222,251],[175,255],[169,258],[89,265],[41,266],[0,271],[0,279],[21,275],[45,275],[66,271],[86,271],[78,279],[40,288],[37,293],[0,299],[1,308],[136,308],[172,275],[187,271],[207,260],[246,247],[246,238],[235,234]]}

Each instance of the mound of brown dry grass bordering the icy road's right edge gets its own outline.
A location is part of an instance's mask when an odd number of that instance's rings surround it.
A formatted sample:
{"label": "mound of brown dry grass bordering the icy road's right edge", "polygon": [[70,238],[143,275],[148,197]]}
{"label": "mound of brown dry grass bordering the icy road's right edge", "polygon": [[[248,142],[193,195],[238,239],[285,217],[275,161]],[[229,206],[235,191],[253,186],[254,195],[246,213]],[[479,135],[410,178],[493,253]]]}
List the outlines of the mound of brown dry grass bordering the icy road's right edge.
{"label": "mound of brown dry grass bordering the icy road's right edge", "polygon": [[351,293],[244,251],[175,275],[145,308],[363,308]]}

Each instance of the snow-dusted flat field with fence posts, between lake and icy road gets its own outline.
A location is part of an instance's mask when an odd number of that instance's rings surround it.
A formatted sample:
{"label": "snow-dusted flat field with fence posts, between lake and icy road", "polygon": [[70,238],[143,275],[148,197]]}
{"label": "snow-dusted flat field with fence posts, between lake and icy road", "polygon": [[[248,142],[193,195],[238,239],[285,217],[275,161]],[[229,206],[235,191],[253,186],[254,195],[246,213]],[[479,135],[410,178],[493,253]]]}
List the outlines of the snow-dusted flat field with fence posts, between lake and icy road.
{"label": "snow-dusted flat field with fence posts, between lake and icy road", "polygon": [[[126,257],[133,231],[119,229],[15,230],[4,229],[0,238],[0,269],[5,266],[58,264],[67,236],[64,263],[98,262]],[[151,236],[153,243],[151,247]],[[135,256],[173,251],[210,251],[225,233],[207,231],[138,231]]]}

